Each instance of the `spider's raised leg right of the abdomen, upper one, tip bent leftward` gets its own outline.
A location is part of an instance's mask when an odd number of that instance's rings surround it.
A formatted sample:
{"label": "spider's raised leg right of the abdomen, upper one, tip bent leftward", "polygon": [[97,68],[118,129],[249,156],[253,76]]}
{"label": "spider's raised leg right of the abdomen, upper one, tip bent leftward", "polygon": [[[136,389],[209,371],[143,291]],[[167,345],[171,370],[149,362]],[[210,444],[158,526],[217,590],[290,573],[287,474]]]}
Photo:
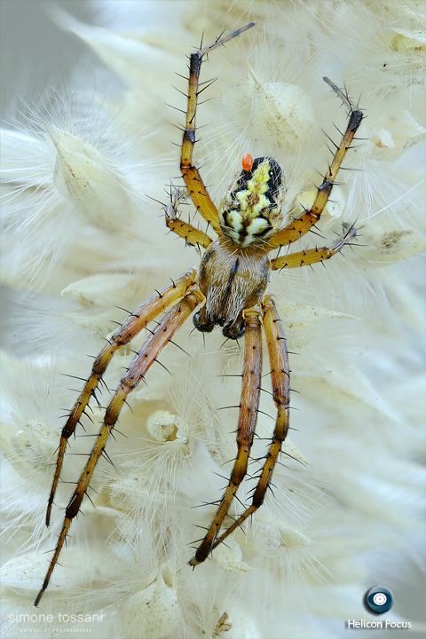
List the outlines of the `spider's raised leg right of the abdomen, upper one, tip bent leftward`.
{"label": "spider's raised leg right of the abdomen, upper one, tip bent leftward", "polygon": [[328,80],[327,77],[323,78],[323,80],[331,86],[333,91],[335,91],[339,98],[343,100],[343,103],[346,106],[349,106],[350,117],[348,126],[346,127],[346,131],[343,135],[342,142],[335,152],[333,162],[331,162],[322,184],[318,188],[318,192],[311,209],[305,211],[301,216],[296,217],[296,219],[292,220],[286,228],[283,228],[276,233],[268,241],[268,250],[291,244],[302,237],[304,233],[307,233],[312,226],[318,222],[319,217],[321,217],[322,211],[327,204],[337,173],[342,166],[343,158],[350,148],[353,138],[355,137],[355,134],[359,129],[359,125],[362,122],[362,118],[364,117],[362,111],[355,108],[349,97],[345,95],[343,91],[340,91],[340,89],[338,89],[331,80]]}

